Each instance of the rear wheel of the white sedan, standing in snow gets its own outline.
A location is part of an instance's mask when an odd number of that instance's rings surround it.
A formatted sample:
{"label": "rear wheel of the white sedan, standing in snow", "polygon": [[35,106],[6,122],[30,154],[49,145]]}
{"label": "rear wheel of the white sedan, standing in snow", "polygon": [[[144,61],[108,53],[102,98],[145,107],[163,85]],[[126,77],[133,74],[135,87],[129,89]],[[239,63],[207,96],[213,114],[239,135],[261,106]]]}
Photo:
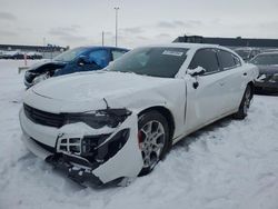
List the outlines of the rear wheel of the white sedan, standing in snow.
{"label": "rear wheel of the white sedan, standing in snow", "polygon": [[238,111],[234,115],[235,119],[244,120],[248,115],[248,109],[252,99],[252,91],[250,84],[246,87],[245,94],[241,99]]}

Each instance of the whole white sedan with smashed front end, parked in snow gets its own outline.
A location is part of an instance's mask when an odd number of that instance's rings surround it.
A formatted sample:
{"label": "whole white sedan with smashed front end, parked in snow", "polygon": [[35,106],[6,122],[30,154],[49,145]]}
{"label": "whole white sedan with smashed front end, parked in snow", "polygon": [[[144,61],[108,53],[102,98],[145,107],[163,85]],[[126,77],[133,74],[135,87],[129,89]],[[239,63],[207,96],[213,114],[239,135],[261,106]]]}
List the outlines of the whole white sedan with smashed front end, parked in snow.
{"label": "whole white sedan with smashed front end, parked in snow", "polygon": [[78,182],[127,182],[170,147],[220,118],[244,119],[258,69],[227,48],[135,49],[103,71],[43,81],[26,92],[22,140]]}

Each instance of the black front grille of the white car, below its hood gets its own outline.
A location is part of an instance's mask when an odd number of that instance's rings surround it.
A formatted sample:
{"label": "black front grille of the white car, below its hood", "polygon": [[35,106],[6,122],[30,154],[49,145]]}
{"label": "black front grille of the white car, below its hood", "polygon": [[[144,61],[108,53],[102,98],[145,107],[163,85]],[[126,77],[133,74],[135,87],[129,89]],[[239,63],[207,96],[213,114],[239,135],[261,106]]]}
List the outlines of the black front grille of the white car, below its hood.
{"label": "black front grille of the white car, below its hood", "polygon": [[23,103],[23,109],[27,118],[38,125],[61,128],[64,121],[64,115],[51,113],[42,110],[34,109]]}

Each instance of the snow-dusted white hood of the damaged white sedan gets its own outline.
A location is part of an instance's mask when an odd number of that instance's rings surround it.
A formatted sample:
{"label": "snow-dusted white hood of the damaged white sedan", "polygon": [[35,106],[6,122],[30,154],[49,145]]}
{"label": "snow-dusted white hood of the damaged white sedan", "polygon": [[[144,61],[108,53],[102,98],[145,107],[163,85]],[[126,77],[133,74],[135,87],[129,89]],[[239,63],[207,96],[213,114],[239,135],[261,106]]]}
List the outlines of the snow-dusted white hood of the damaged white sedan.
{"label": "snow-dusted white hood of the damaged white sedan", "polygon": [[[165,86],[172,80],[127,72],[79,72],[48,79],[30,90],[44,98],[68,102],[98,103],[102,101],[102,106],[106,107],[103,101],[120,102],[121,98],[127,98],[138,91],[146,91],[147,94],[148,90]],[[122,103],[125,101],[121,101]]]}

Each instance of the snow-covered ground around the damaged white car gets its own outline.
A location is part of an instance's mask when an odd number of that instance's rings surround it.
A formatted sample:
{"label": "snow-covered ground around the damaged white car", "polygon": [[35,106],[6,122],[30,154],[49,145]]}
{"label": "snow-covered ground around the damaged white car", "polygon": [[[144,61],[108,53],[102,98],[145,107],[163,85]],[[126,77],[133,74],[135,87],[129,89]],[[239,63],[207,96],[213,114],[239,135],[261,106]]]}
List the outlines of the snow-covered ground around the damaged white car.
{"label": "snow-covered ground around the damaged white car", "polygon": [[256,96],[244,121],[191,135],[129,187],[85,189],[21,142],[22,64],[0,60],[0,209],[278,208],[278,97]]}

